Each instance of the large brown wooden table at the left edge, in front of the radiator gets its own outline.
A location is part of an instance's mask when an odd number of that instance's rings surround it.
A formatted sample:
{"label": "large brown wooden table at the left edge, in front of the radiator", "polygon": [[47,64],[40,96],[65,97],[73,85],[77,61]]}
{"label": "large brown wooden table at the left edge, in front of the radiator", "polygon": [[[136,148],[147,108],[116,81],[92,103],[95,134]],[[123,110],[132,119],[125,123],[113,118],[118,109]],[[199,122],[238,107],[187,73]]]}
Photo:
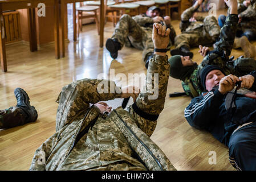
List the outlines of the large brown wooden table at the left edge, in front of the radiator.
{"label": "large brown wooden table at the left edge, in front of the radiator", "polygon": [[60,58],[59,46],[59,1],[60,0],[0,0],[0,59],[3,72],[7,72],[6,49],[5,49],[5,26],[3,22],[3,13],[5,10],[28,9],[29,40],[30,51],[37,51],[36,42],[36,24],[35,24],[35,7],[39,3],[46,6],[54,6],[54,40],[55,40],[55,58]]}

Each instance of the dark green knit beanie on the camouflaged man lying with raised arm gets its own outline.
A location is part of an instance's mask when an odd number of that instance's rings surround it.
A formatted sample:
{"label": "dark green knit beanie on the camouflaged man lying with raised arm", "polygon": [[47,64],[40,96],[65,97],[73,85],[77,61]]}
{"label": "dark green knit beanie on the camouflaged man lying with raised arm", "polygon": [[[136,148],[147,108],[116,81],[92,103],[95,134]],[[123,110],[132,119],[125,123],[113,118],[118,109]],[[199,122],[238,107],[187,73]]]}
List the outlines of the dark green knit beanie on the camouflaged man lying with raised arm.
{"label": "dark green knit beanie on the camouflaged man lying with raised arm", "polygon": [[180,55],[172,56],[168,61],[170,63],[170,76],[173,78],[180,79],[182,81],[190,77],[194,69],[197,68],[197,64],[184,67],[182,65]]}

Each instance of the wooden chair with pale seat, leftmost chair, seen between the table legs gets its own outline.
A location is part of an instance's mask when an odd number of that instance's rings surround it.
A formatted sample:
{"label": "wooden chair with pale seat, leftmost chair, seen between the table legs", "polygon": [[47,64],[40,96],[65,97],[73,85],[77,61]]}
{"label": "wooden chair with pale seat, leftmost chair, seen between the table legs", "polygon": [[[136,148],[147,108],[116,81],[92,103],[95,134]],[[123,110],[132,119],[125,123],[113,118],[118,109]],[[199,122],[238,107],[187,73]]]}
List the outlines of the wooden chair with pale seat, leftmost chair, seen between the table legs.
{"label": "wooden chair with pale seat, leftmost chair, seen between the table legs", "polygon": [[78,11],[78,36],[80,31],[82,31],[82,19],[84,18],[94,18],[98,35],[100,34],[99,19],[97,16],[97,10],[99,10],[99,8],[99,6],[83,5],[83,2],[80,3],[80,7],[76,8],[76,11]]}

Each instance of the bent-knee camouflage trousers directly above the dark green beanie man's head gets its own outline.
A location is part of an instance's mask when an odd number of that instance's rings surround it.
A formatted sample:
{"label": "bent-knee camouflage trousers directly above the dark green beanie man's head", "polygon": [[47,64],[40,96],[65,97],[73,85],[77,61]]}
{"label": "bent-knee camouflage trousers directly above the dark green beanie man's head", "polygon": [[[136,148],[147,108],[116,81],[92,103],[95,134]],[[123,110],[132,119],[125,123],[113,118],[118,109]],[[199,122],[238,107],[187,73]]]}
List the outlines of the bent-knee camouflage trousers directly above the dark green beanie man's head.
{"label": "bent-knee camouflage trousers directly above the dark green beanie man's head", "polygon": [[174,39],[174,46],[176,48],[181,48],[182,46],[209,46],[215,43],[219,36],[220,26],[218,26],[217,19],[214,16],[206,16],[204,26],[200,30],[197,29],[177,35]]}

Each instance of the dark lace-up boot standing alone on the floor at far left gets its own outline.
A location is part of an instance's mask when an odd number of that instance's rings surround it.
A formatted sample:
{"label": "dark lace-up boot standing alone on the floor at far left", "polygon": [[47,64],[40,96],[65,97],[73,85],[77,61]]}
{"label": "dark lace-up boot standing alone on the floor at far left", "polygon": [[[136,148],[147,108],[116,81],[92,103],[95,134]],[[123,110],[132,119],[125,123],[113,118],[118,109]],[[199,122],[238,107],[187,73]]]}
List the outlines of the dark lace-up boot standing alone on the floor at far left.
{"label": "dark lace-up boot standing alone on the floor at far left", "polygon": [[38,113],[34,106],[30,105],[29,96],[22,88],[16,88],[14,95],[17,99],[17,107],[21,108],[27,115],[26,122],[34,122],[38,117]]}

